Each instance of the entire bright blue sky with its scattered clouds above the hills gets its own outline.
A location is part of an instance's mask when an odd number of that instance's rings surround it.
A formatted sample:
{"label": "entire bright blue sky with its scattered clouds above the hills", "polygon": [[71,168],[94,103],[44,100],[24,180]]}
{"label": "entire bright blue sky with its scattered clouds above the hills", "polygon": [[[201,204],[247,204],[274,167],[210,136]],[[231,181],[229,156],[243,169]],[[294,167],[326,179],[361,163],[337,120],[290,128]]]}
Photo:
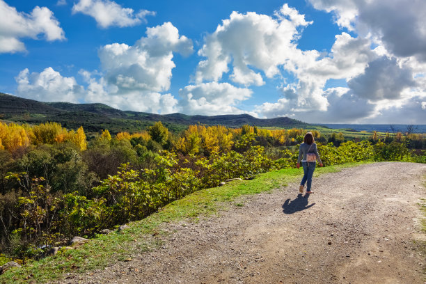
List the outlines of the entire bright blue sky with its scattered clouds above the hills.
{"label": "entire bright blue sky with its scattered clouds above the hills", "polygon": [[426,1],[0,0],[0,92],[123,110],[426,121]]}

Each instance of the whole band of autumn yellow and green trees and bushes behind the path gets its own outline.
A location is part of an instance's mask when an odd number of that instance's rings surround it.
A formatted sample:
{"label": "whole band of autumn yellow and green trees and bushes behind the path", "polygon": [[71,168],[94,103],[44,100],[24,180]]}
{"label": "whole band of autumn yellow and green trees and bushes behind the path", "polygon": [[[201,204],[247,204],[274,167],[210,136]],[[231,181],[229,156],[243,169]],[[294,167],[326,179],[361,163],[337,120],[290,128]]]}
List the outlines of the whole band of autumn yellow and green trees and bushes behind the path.
{"label": "whole band of autumn yellow and green trees and bushes behind the path", "polygon": [[[247,126],[194,125],[177,137],[156,123],[139,134],[111,137],[106,130],[87,145],[82,129],[39,128],[13,125],[8,133],[21,135],[16,139],[20,146],[10,148],[13,143],[8,142],[4,145],[9,150],[0,150],[0,249],[19,258],[37,255],[40,247],[61,244],[74,235],[93,236],[142,219],[173,200],[230,178],[295,167],[297,143],[303,140],[301,129],[271,132]],[[322,136],[316,132],[315,137]],[[407,139],[371,143],[341,138],[318,144],[324,166],[425,162],[423,153],[411,155]],[[336,141],[339,147],[333,145]]]}

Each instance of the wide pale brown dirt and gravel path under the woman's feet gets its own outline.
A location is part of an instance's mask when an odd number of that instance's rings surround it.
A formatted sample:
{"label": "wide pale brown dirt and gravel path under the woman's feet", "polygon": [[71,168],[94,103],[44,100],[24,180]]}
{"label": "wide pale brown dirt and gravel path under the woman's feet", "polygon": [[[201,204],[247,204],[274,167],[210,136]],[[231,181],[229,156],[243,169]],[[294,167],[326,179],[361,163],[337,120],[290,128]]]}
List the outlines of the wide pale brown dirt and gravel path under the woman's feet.
{"label": "wide pale brown dirt and gravel path under the woman's feet", "polygon": [[[423,164],[379,163],[167,224],[164,246],[64,283],[425,283]],[[424,246],[424,245],[423,245]]]}

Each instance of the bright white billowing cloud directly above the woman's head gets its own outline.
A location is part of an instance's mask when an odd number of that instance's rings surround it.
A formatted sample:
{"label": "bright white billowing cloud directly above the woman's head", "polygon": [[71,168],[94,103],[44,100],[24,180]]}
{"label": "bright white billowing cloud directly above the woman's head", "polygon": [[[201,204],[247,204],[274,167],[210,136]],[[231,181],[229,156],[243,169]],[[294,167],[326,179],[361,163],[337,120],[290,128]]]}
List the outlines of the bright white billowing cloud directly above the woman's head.
{"label": "bright white billowing cloud directly above the woman's head", "polygon": [[296,80],[280,88],[283,98],[277,102],[264,103],[256,110],[260,116],[268,118],[298,116],[301,119],[300,113],[323,113],[337,102],[331,100],[336,97],[333,96],[334,90],[331,93],[324,92],[326,81],[362,74],[368,62],[375,57],[377,55],[370,50],[370,40],[352,38],[348,33],[336,36],[331,52],[326,56],[316,50],[302,52],[297,49],[284,65],[287,71],[295,75]]}

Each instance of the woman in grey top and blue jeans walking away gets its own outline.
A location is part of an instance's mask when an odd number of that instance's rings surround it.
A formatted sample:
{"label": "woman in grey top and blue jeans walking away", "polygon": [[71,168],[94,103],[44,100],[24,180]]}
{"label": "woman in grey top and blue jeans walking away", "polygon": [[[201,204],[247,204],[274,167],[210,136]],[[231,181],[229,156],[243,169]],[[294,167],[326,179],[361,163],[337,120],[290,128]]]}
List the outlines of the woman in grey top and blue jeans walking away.
{"label": "woman in grey top and blue jeans walking away", "polygon": [[315,166],[317,166],[317,161],[319,166],[322,166],[321,158],[319,158],[317,144],[313,138],[312,133],[308,132],[303,138],[303,143],[301,143],[299,148],[299,157],[297,158],[297,168],[300,168],[300,161],[303,167],[303,178],[300,182],[299,191],[303,193],[303,187],[307,184],[306,194],[313,194],[313,191],[310,190],[310,185],[312,184],[312,175],[315,171]]}

